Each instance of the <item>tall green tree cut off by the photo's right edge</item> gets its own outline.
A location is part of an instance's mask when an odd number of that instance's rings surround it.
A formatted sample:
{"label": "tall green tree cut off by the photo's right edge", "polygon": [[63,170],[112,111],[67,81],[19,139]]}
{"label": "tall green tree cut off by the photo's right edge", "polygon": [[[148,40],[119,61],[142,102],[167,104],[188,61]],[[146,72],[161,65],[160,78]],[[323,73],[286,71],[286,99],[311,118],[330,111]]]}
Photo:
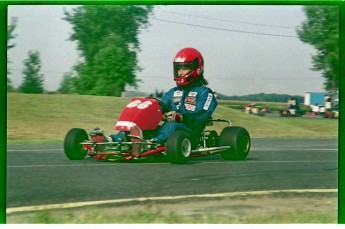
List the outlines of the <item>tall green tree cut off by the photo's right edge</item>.
{"label": "tall green tree cut off by the photo's right edge", "polygon": [[297,28],[301,41],[315,47],[313,70],[321,71],[325,90],[339,90],[339,6],[305,6],[307,20]]}

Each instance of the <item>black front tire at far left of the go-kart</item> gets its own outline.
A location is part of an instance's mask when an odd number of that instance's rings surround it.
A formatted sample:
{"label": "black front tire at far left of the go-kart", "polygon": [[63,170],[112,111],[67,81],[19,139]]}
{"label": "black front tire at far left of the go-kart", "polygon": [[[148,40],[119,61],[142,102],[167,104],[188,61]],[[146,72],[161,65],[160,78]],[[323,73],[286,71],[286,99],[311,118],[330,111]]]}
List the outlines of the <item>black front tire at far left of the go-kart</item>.
{"label": "black front tire at far left of the go-kart", "polygon": [[84,129],[73,128],[68,131],[64,140],[65,155],[71,160],[81,160],[86,156],[87,150],[80,145],[81,142],[89,140]]}

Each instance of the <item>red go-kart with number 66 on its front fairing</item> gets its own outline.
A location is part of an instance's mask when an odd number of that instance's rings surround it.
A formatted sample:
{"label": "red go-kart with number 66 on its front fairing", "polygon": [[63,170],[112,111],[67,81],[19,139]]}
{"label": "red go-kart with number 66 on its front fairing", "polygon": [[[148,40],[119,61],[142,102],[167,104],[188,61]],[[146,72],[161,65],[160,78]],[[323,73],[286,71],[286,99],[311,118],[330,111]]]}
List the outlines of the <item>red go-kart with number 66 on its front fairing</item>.
{"label": "red go-kart with number 66 on its front fairing", "polygon": [[[124,108],[115,125],[125,138],[106,141],[105,137],[93,136],[81,128],[72,128],[64,139],[64,152],[71,160],[82,160],[86,156],[103,161],[132,161],[147,158],[166,158],[173,164],[184,164],[192,157],[220,153],[225,160],[243,160],[250,150],[248,131],[231,126],[224,119],[211,119],[191,131],[176,130],[165,143],[147,141],[161,127],[164,112],[169,109],[159,99],[133,98]],[[206,130],[215,122],[226,126],[220,134]]]}

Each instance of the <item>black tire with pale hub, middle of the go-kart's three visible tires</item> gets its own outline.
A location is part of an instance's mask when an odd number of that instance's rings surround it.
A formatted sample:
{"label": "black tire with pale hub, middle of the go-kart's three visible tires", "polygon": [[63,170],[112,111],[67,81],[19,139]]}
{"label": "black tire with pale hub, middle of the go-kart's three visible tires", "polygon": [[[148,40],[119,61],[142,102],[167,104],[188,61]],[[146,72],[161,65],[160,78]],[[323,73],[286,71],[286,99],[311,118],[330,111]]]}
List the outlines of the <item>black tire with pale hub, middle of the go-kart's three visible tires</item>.
{"label": "black tire with pale hub, middle of the go-kart's three visible tires", "polygon": [[192,152],[190,135],[183,130],[175,131],[167,140],[166,153],[172,164],[185,164]]}

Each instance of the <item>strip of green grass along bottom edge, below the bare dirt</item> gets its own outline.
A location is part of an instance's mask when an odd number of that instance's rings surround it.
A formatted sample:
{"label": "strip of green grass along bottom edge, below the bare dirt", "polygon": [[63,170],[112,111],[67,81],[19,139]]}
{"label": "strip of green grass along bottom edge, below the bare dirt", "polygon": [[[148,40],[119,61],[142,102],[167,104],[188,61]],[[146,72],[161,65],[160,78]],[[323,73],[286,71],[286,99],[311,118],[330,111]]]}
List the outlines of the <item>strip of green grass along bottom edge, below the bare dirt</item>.
{"label": "strip of green grass along bottom edge, below the bare dirt", "polygon": [[[21,216],[22,218],[23,216]],[[294,223],[336,223],[336,214],[310,213],[305,211],[276,212],[270,215],[246,216],[242,218],[225,215],[184,216],[176,212],[167,215],[161,210],[135,211],[128,215],[101,215],[99,210],[75,214],[73,212],[54,213],[43,211],[28,218],[22,218],[26,224],[294,224]],[[16,222],[18,223],[18,222]]]}

